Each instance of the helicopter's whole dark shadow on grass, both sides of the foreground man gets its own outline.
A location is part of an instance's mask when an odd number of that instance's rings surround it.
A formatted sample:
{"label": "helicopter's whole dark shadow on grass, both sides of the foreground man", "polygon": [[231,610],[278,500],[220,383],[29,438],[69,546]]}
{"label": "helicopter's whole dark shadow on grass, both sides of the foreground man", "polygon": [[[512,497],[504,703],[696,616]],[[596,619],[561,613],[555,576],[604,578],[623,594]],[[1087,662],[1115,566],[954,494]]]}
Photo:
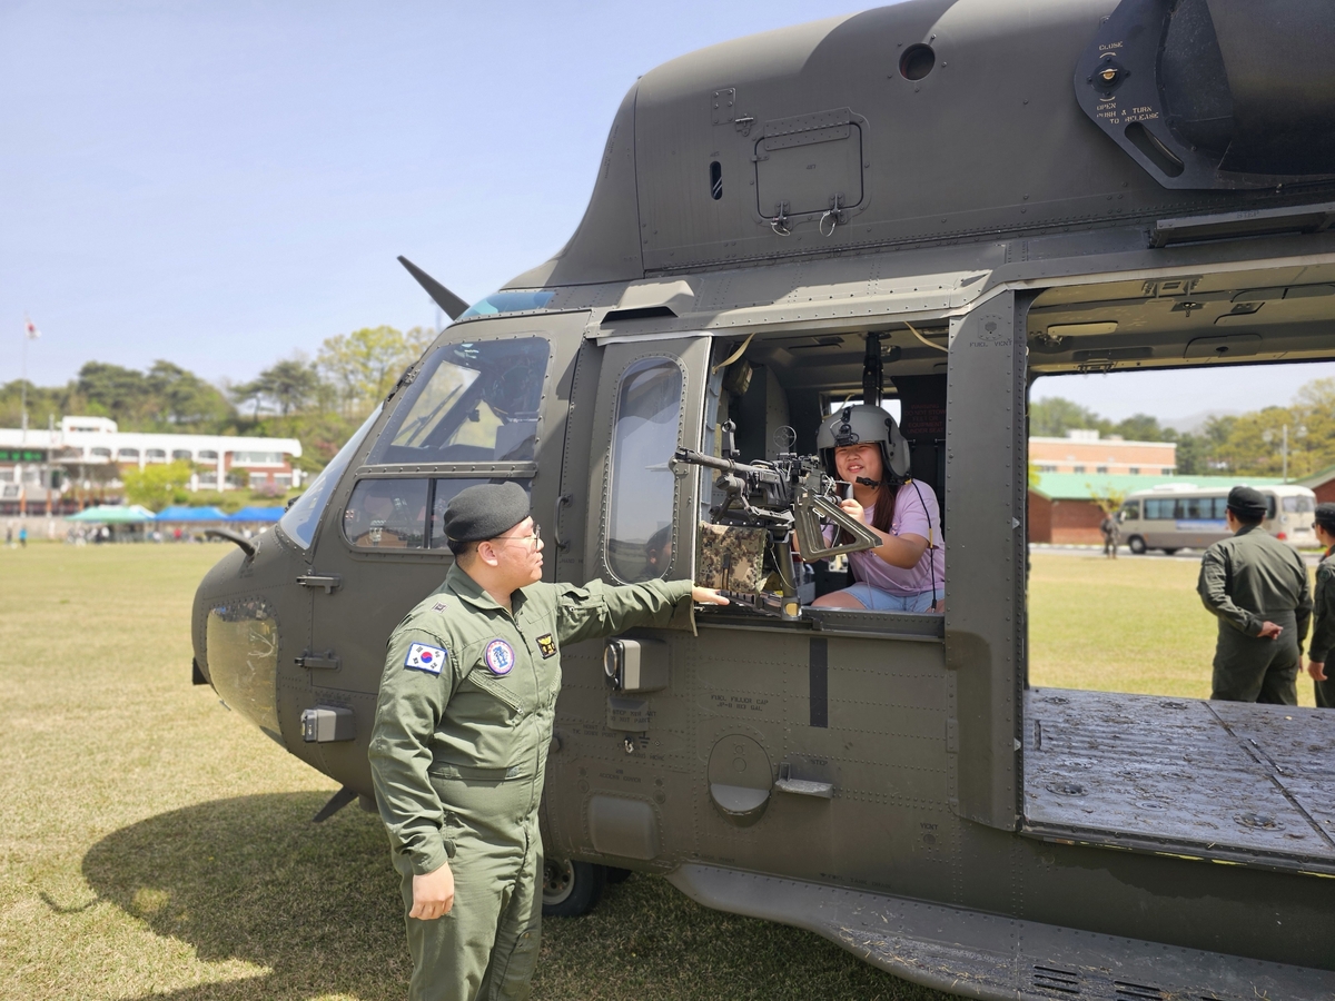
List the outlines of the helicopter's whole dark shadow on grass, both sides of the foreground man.
{"label": "helicopter's whole dark shadow on grass, both sides of the foreground man", "polygon": [[[191,945],[202,962],[267,968],[171,993],[150,989],[142,1001],[407,994],[411,961],[384,829],[355,807],[311,823],[326,798],[278,793],[199,803],[89,849],[83,874],[97,901]],[[539,997],[944,997],[805,932],[704,910],[662,880],[609,888],[595,914],[545,922],[543,940]]]}

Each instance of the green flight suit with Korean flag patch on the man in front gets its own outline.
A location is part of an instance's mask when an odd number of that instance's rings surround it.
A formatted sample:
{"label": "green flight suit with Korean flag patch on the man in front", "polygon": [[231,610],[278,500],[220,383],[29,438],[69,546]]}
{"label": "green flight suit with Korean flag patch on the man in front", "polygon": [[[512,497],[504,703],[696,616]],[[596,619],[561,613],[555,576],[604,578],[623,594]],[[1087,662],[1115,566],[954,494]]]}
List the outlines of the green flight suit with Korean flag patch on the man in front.
{"label": "green flight suit with Korean flag patch on the man in front", "polygon": [[514,593],[511,613],[454,566],[390,635],[370,759],[405,914],[414,874],[446,861],[454,873],[449,914],[406,918],[413,1001],[529,996],[561,650],[633,626],[689,626],[690,587],[535,583]]}

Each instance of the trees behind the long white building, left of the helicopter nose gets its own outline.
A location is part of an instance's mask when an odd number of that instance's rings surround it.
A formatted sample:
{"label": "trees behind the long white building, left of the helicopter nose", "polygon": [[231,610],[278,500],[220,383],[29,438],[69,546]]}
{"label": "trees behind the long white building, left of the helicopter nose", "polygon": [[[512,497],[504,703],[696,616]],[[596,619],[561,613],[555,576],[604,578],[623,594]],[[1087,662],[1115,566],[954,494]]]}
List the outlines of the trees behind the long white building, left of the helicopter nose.
{"label": "trees behind the long white building, left of the helicopter nose", "polygon": [[[363,327],[320,344],[314,360],[279,360],[255,379],[214,384],[172,362],[146,371],[88,362],[64,386],[28,384],[28,426],[107,416],[121,431],[296,438],[306,471],[324,467],[435,331]],[[0,386],[0,427],[19,427],[23,383]]]}

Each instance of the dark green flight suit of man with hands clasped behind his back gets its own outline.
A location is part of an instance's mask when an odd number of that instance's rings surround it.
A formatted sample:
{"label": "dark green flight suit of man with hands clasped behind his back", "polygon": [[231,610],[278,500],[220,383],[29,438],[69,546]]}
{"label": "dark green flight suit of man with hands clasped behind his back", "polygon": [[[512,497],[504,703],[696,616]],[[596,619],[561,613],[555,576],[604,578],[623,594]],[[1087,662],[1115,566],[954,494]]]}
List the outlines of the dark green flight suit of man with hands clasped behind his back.
{"label": "dark green flight suit of man with hands clasped behind his back", "polygon": [[[1298,663],[1312,614],[1307,565],[1260,526],[1243,526],[1200,561],[1200,599],[1219,618],[1214,699],[1298,705]],[[1262,623],[1283,626],[1278,639]]]}

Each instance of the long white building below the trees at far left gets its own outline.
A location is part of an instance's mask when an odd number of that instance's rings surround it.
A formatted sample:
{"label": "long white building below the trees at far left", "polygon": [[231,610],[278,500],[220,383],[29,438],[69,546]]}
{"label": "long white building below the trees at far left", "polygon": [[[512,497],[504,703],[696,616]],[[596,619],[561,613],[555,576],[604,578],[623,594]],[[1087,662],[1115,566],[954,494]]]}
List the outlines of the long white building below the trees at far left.
{"label": "long white building below the trees at far left", "polygon": [[109,466],[142,470],[178,459],[195,467],[188,486],[192,491],[250,487],[282,492],[300,486],[300,470],[292,466],[300,455],[302,443],[295,438],[120,431],[107,418],[67,416],[59,428],[0,428],[0,506],[45,506],[52,467],[73,478],[101,472],[100,482],[116,486],[117,476],[105,476]]}

